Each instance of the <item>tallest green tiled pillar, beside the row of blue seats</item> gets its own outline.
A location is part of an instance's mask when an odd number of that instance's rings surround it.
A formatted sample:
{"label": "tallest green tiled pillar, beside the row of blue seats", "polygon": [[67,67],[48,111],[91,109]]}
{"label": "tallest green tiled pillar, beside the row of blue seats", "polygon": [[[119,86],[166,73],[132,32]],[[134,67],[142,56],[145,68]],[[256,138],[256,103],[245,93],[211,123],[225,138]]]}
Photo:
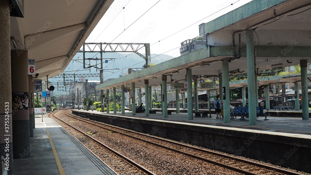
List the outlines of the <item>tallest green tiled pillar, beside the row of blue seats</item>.
{"label": "tallest green tiled pillar, beside the row of blue seats", "polygon": [[[257,82],[255,81],[255,64],[254,64],[254,41],[253,29],[246,30],[246,57],[247,57],[247,84],[248,84],[248,113],[249,125],[257,124],[256,105],[258,97],[256,97]],[[257,99],[256,99],[257,98]]]}

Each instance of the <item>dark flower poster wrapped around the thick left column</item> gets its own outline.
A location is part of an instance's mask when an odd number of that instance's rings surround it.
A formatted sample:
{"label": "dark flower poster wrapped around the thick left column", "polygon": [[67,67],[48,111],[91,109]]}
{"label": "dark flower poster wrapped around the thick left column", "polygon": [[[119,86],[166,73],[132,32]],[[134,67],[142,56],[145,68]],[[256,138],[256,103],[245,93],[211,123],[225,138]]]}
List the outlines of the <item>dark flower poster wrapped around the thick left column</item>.
{"label": "dark flower poster wrapped around the thick left column", "polygon": [[29,109],[29,93],[12,92],[12,109]]}

